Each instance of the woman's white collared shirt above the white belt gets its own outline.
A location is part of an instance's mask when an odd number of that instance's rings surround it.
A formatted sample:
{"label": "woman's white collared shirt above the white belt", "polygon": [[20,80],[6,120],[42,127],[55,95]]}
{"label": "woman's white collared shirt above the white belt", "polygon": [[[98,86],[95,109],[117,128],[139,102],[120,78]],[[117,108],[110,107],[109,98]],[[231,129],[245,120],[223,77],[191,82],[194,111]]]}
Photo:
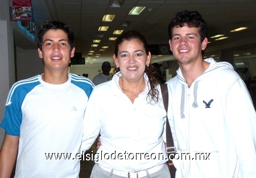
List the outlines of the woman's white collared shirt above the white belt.
{"label": "woman's white collared shirt above the white belt", "polygon": [[[158,103],[147,102],[147,83],[144,91],[131,103],[118,84],[119,77],[121,73],[115,74],[112,81],[96,86],[90,95],[81,151],[88,150],[100,133],[102,145],[94,161],[101,166],[119,171],[140,171],[166,163],[166,111],[160,86]],[[144,78],[147,82],[146,74]]]}

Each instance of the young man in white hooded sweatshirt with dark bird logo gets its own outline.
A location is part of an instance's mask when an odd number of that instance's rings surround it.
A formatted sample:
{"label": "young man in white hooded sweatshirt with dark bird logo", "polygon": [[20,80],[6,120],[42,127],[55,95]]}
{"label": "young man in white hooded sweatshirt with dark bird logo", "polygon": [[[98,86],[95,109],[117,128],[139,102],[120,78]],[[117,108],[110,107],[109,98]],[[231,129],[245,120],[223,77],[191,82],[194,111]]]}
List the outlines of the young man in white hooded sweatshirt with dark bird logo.
{"label": "young man in white hooded sweatshirt with dark bird logo", "polygon": [[176,177],[256,177],[256,115],[245,83],[230,63],[203,60],[199,12],[178,12],[168,33],[180,66],[167,82]]}

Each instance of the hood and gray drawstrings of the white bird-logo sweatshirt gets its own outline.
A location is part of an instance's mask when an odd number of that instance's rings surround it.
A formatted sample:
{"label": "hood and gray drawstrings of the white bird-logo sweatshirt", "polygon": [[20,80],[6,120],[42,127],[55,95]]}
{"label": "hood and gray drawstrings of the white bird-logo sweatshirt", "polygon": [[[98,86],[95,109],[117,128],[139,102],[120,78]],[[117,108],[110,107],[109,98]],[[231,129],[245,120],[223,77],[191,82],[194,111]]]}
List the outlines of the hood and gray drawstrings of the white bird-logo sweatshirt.
{"label": "hood and gray drawstrings of the white bird-logo sweatshirt", "polygon": [[[197,79],[191,84],[191,88],[193,88],[193,96],[194,96],[194,101],[193,101],[193,104],[192,104],[193,108],[198,107],[198,104],[197,104],[197,90],[198,90],[199,82],[200,82],[201,79],[207,77],[208,75],[214,74],[218,70],[222,70],[224,68],[233,69],[233,66],[228,62],[216,62],[213,58],[207,58],[204,61],[210,63],[208,69],[205,70],[203,74],[199,75],[199,77],[197,77]],[[185,88],[189,87],[189,86],[185,82],[185,79],[184,79],[184,77],[181,73],[180,67],[176,72],[177,72],[177,79],[178,79],[179,83],[182,84],[181,102],[180,102],[180,117],[185,118],[185,115],[184,115]]]}

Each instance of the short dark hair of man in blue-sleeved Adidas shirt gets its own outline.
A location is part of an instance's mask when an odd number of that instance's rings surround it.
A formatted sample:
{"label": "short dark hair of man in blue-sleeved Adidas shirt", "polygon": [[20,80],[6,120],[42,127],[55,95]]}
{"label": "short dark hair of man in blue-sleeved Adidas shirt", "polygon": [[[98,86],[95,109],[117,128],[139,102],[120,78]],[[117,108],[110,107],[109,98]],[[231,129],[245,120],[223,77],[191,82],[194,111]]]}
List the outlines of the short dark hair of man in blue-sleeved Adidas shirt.
{"label": "short dark hair of man in blue-sleeved Adidas shirt", "polygon": [[36,38],[36,41],[38,43],[38,48],[42,50],[42,45],[43,45],[43,36],[48,32],[50,29],[61,29],[63,30],[67,36],[68,36],[68,42],[70,45],[71,50],[75,47],[75,37],[72,29],[70,26],[63,22],[57,22],[57,21],[46,21],[46,24],[42,26],[38,32],[38,37]]}

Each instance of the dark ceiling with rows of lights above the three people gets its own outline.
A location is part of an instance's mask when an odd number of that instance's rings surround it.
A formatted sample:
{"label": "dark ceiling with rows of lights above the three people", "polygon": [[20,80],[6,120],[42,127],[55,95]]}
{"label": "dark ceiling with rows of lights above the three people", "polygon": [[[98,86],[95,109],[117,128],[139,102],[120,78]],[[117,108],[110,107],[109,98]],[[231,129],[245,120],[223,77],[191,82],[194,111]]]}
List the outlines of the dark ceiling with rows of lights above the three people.
{"label": "dark ceiling with rows of lights above the three people", "polygon": [[[45,20],[58,20],[69,24],[75,33],[76,52],[82,53],[86,65],[101,65],[104,61],[113,62],[114,42],[109,41],[115,30],[135,29],[141,32],[149,45],[168,45],[168,24],[177,11],[197,10],[208,23],[208,36],[222,34],[225,40],[210,43],[205,56],[215,55],[221,58],[220,50],[234,50],[234,54],[256,51],[256,1],[249,0],[32,0],[33,22],[36,26]],[[114,3],[114,4],[113,4]],[[139,15],[128,15],[134,6],[145,6]],[[115,15],[113,22],[102,22],[104,15]],[[121,26],[126,22],[128,26]],[[100,26],[109,26],[108,31],[98,32]],[[248,27],[240,32],[230,32],[239,27]],[[104,35],[103,37],[97,37]],[[24,43],[24,37],[15,31],[15,43],[24,49],[36,48]],[[92,47],[93,40],[101,40],[98,46]],[[109,46],[100,51],[102,46]],[[88,54],[94,50],[93,54]],[[98,54],[98,55],[97,55]],[[100,54],[100,55],[99,55]],[[99,57],[96,57],[99,56]],[[90,58],[88,58],[90,57]],[[170,55],[154,56],[152,61],[173,60]]]}

